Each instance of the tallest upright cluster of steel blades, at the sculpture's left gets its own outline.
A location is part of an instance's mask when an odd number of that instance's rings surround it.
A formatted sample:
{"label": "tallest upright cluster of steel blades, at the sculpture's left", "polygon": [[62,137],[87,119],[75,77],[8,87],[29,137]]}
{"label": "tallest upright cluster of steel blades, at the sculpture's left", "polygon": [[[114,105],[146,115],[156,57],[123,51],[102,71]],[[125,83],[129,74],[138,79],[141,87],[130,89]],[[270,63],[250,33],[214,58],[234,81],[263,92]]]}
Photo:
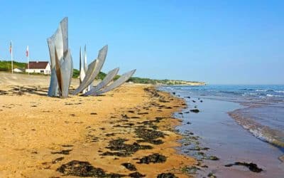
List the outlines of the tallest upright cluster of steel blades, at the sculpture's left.
{"label": "tallest upright cluster of steel blades, at the sculpture's left", "polygon": [[48,48],[50,52],[51,78],[48,96],[68,97],[73,63],[68,48],[68,19],[65,17],[60,21],[57,31],[48,38]]}

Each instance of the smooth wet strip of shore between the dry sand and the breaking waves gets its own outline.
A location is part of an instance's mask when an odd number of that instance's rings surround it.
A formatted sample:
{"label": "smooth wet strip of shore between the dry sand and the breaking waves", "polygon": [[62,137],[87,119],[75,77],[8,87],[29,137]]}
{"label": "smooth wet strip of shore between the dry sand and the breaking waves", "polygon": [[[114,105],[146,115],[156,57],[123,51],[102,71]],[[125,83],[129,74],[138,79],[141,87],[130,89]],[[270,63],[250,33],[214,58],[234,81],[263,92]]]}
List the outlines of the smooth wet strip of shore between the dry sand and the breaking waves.
{"label": "smooth wet strip of shore between the dry sand and the breaking waves", "polygon": [[[179,151],[197,159],[196,168],[191,169],[192,174],[200,177],[281,177],[284,173],[284,164],[278,159],[283,153],[251,135],[228,115],[227,112],[243,108],[243,105],[209,99],[202,93],[194,95],[173,88],[164,90],[184,98],[189,105],[187,109],[177,113],[182,118],[182,125],[177,129],[185,135]],[[199,112],[192,112],[193,109],[198,109]],[[208,159],[210,155],[218,159]],[[234,165],[235,162],[252,162],[264,171],[251,172],[245,166]]]}

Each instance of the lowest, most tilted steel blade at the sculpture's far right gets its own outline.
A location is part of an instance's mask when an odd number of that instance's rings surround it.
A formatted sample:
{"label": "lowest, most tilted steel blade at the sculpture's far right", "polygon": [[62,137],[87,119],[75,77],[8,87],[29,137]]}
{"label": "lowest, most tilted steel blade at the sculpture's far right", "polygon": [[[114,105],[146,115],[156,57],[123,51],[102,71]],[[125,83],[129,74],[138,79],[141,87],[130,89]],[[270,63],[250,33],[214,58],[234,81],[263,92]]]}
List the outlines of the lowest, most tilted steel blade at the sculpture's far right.
{"label": "lowest, most tilted steel blade at the sculpture's far right", "polygon": [[114,83],[111,83],[105,88],[102,88],[102,90],[98,90],[96,92],[93,92],[91,95],[101,95],[102,93],[107,93],[110,90],[113,90],[114,88],[118,88],[120,85],[124,84],[131,76],[135,73],[136,69],[129,71],[128,73],[124,73],[121,75],[121,77],[114,81]]}

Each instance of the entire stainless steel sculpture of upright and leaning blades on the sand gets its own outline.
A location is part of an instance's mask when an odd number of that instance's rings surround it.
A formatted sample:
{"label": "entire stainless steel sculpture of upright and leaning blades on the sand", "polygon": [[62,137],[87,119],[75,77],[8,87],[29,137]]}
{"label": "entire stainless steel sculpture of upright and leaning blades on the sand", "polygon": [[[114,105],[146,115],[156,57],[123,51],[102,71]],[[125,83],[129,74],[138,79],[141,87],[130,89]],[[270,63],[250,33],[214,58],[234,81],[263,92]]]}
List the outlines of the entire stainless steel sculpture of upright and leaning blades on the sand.
{"label": "entire stainless steel sculpture of upright and leaning blades on the sand", "polygon": [[[48,48],[50,53],[51,63],[51,76],[50,87],[48,89],[48,96],[60,96],[67,98],[69,88],[73,74],[73,62],[70,49],[68,48],[68,19],[65,17],[60,21],[57,31],[48,38]],[[80,48],[80,85],[72,93],[77,95],[78,93],[84,93],[84,95],[99,95],[106,93],[109,90],[119,87],[126,80],[129,80],[136,70],[131,70],[128,73],[124,73],[121,77],[111,83],[114,77],[119,72],[119,68],[114,68],[107,73],[104,80],[98,85],[92,86],[94,79],[102,70],[104,61],[107,58],[108,46],[104,46],[97,56],[97,59],[87,66],[87,52],[86,46],[84,46],[84,56],[82,56],[82,50]],[[108,85],[111,83],[110,85]]]}

